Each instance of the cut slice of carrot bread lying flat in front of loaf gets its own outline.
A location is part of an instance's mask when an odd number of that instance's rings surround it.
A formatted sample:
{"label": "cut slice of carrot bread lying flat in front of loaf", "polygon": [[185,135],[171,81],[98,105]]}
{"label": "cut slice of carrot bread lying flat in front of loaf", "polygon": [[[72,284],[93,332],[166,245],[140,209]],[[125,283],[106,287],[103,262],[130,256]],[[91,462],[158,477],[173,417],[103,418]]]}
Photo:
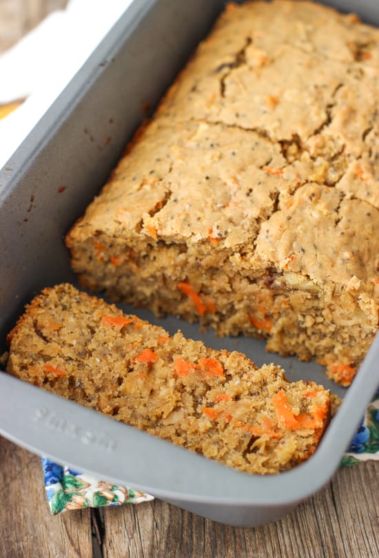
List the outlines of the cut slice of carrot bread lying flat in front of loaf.
{"label": "cut slice of carrot bread lying flat in front of loaf", "polygon": [[322,386],[170,336],[71,285],[34,298],[8,342],[9,373],[249,473],[303,462],[329,422]]}

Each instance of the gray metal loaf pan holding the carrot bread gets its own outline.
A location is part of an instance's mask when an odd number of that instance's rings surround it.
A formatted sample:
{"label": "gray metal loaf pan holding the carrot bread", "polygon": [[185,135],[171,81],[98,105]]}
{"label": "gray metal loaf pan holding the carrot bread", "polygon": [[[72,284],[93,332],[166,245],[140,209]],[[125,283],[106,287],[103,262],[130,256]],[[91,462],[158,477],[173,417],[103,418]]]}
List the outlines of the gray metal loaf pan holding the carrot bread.
{"label": "gray metal loaf pan holding the carrot bread", "polygon": [[[329,4],[379,23],[376,0]],[[99,192],[145,118],[144,107],[156,106],[223,6],[221,0],[134,1],[1,170],[1,350],[35,293],[76,282],[65,232]],[[198,324],[135,312],[216,349],[245,352],[258,365],[281,364],[289,379],[311,378],[342,396],[316,453],[278,475],[240,473],[3,372],[0,433],[59,463],[235,526],[275,521],[329,482],[378,387],[379,338],[352,386],[342,389],[317,364],[268,355],[258,340],[216,338]]]}

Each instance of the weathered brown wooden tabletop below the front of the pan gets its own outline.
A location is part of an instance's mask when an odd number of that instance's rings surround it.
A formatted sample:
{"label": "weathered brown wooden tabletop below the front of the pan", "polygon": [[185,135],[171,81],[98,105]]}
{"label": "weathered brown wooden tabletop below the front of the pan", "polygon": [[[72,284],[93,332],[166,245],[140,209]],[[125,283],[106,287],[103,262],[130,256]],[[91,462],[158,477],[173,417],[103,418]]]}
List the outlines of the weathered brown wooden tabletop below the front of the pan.
{"label": "weathered brown wooden tabletop below the front of the pan", "polygon": [[256,528],[159,500],[52,517],[39,457],[0,438],[0,557],[379,558],[378,479],[379,462],[340,469],[291,514]]}

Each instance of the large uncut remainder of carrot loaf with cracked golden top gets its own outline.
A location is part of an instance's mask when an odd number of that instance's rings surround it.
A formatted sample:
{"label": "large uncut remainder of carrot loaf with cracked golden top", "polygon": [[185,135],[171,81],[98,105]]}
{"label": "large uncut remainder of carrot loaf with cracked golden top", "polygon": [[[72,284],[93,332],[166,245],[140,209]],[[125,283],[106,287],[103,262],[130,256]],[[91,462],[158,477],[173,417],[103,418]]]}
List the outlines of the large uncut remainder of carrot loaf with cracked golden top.
{"label": "large uncut remainder of carrot loaf with cracked golden top", "polygon": [[81,284],[327,366],[378,330],[379,31],[227,7],[67,236]]}

